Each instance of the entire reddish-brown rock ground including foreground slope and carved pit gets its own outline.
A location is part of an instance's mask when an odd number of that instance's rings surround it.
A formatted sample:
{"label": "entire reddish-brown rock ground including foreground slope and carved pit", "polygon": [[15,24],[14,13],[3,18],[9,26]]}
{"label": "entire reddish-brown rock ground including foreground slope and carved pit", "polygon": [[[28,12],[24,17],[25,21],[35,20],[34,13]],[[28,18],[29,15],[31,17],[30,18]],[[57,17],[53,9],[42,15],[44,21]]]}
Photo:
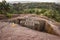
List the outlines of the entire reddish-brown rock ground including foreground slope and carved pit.
{"label": "entire reddish-brown rock ground including foreground slope and carved pit", "polygon": [[41,15],[20,14],[0,20],[1,40],[60,40],[60,23]]}

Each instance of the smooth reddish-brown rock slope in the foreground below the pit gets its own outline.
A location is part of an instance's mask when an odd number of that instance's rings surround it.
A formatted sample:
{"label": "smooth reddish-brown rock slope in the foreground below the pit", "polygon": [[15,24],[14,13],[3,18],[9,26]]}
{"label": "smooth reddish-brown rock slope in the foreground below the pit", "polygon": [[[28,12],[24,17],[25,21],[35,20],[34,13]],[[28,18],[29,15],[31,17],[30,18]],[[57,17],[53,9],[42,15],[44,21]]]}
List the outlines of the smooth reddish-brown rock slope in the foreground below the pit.
{"label": "smooth reddish-brown rock slope in the foreground below the pit", "polygon": [[0,40],[60,40],[60,38],[14,23],[0,22]]}

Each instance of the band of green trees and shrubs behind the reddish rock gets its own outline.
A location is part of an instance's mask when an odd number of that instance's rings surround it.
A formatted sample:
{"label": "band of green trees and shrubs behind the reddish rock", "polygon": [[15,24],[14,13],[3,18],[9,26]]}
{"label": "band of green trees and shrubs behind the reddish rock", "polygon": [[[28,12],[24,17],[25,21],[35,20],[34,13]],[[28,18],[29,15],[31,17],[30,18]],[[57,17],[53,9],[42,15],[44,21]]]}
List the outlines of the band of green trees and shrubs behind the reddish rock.
{"label": "band of green trees and shrubs behind the reddish rock", "polygon": [[44,15],[60,22],[60,5],[55,3],[7,3],[0,2],[0,14],[11,17],[12,14],[30,13]]}

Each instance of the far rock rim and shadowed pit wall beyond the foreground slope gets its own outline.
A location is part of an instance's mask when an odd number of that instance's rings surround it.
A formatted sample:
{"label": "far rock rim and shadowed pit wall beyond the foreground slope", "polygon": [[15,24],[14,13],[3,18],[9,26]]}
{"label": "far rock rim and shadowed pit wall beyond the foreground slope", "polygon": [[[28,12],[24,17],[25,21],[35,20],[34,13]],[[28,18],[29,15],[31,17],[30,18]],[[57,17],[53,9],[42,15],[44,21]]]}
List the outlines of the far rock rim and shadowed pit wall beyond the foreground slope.
{"label": "far rock rim and shadowed pit wall beyond the foreground slope", "polygon": [[21,14],[18,17],[3,20],[5,22],[14,22],[33,30],[46,32],[60,36],[60,23],[55,22],[45,16],[35,14]]}

